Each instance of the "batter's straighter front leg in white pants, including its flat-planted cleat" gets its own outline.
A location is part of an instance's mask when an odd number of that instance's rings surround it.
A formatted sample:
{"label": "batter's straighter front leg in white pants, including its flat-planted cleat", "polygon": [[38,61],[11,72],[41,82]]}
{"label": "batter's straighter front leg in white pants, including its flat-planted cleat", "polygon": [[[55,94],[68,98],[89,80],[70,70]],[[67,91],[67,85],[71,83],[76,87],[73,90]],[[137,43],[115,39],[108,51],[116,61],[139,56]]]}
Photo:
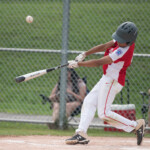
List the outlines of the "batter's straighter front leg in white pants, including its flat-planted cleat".
{"label": "batter's straighter front leg in white pants, including its flat-planted cleat", "polygon": [[89,142],[86,132],[96,112],[99,87],[100,81],[85,97],[79,127],[76,130],[76,134],[66,140],[66,144],[87,144]]}

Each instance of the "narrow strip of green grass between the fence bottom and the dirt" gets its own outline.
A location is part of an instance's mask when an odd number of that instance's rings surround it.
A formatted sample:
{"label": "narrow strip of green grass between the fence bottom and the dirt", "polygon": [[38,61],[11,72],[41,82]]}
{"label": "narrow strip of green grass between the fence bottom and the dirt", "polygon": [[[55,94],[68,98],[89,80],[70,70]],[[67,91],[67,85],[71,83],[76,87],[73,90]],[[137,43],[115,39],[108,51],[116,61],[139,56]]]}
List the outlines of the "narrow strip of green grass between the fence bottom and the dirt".
{"label": "narrow strip of green grass between the fence bottom and the dirt", "polygon": [[[47,125],[0,122],[0,136],[27,136],[27,135],[56,135],[56,136],[72,136],[75,130],[71,127],[67,130],[49,129]],[[135,137],[132,133],[125,132],[108,132],[103,129],[89,129],[89,136],[103,137]],[[145,137],[150,138],[149,134]]]}

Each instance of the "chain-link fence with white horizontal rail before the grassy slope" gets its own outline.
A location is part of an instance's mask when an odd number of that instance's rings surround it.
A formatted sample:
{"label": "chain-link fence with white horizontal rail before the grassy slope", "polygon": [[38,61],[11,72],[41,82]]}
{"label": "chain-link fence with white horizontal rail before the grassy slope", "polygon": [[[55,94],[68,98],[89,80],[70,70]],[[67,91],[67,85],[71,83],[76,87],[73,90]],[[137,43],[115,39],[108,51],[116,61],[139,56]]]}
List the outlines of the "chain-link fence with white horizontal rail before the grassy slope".
{"label": "chain-link fence with white horizontal rail before the grassy slope", "polygon": [[[134,104],[136,118],[146,120],[150,88],[149,8],[148,0],[70,0],[67,55],[68,60],[74,59],[82,51],[111,40],[122,22],[134,22],[139,29],[134,59],[127,72],[126,85],[114,104]],[[11,121],[15,116],[18,121],[38,122],[45,117],[50,122],[53,109],[47,97],[59,81],[60,70],[20,84],[14,79],[61,64],[63,1],[1,0],[0,11],[1,120]],[[25,21],[27,15],[33,16],[33,23]],[[102,56],[101,53],[91,55],[87,60]],[[86,81],[88,91],[102,75],[101,67],[75,71]]]}

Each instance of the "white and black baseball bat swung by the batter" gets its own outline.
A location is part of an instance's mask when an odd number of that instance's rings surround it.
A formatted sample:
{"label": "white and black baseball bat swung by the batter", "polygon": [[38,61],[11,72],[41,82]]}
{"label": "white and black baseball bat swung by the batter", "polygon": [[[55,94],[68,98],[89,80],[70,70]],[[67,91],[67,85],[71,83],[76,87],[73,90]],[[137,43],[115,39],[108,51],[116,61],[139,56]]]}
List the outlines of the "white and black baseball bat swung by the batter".
{"label": "white and black baseball bat swung by the batter", "polygon": [[47,74],[48,72],[51,72],[53,70],[57,70],[59,68],[65,67],[65,66],[68,66],[68,63],[65,64],[65,65],[59,65],[57,67],[53,67],[53,68],[49,68],[49,69],[44,69],[44,70],[39,70],[39,71],[35,71],[35,72],[31,72],[31,73],[28,73],[28,74],[25,74],[25,75],[18,76],[18,77],[15,78],[15,81],[17,83],[28,81],[28,80],[37,78],[39,76]]}

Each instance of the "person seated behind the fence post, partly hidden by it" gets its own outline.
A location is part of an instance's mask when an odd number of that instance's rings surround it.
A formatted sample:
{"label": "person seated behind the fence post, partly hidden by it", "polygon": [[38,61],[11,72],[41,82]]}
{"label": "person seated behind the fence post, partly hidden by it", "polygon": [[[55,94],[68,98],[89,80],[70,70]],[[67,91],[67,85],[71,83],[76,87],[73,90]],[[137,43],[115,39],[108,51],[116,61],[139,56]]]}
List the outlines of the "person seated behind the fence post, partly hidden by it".
{"label": "person seated behind the fence post, partly hidden by it", "polygon": [[[60,80],[55,85],[49,96],[53,103],[52,119],[54,122],[59,118],[59,95]],[[73,69],[67,69],[67,89],[66,89],[66,117],[79,106],[86,96],[86,84]]]}

